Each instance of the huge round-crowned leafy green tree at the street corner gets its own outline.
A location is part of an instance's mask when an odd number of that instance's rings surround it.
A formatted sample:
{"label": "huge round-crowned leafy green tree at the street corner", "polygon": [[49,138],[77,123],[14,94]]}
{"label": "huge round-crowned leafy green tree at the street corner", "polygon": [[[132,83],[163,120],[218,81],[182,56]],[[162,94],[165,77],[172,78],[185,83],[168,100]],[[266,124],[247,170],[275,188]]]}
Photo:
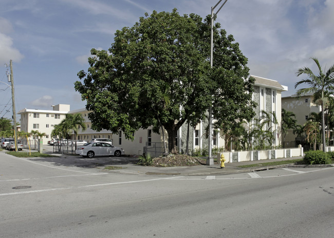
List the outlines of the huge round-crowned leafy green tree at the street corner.
{"label": "huge round-crowned leafy green tree at the street corner", "polygon": [[[75,89],[87,101],[92,129],[124,132],[139,128],[168,132],[176,152],[177,130],[187,120],[213,115],[221,123],[251,118],[253,79],[247,58],[233,36],[214,27],[214,67],[210,68],[210,17],[156,12],[115,34],[105,50],[91,50],[88,72],[80,71]],[[169,98],[168,101],[166,98]]]}

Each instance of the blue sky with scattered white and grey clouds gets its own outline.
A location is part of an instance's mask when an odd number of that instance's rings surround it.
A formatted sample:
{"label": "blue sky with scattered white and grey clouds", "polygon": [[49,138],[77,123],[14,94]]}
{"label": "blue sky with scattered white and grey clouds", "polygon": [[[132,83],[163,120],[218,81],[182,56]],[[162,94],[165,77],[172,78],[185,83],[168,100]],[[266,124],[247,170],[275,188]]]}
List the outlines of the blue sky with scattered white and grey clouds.
{"label": "blue sky with scattered white and grey clouds", "polygon": [[[12,60],[16,112],[85,107],[75,91],[87,72],[90,49],[113,44],[114,33],[132,27],[145,12],[195,13],[205,18],[218,0],[2,0],[0,4],[0,117],[12,117]],[[221,4],[224,3],[224,0]],[[216,8],[216,10],[218,7]],[[334,0],[228,0],[216,22],[248,58],[250,74],[278,81],[295,93],[302,67],[334,65]]]}

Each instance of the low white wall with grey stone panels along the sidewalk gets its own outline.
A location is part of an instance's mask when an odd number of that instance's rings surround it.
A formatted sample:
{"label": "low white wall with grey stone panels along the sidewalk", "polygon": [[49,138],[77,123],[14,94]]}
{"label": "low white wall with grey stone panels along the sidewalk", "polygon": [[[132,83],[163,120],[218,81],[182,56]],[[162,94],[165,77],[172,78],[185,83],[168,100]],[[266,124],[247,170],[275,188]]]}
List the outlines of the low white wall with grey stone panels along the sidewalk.
{"label": "low white wall with grey stone panels along the sidewalk", "polygon": [[[334,151],[334,147],[333,150]],[[243,161],[259,161],[270,160],[271,158],[289,158],[295,156],[303,156],[304,150],[300,145],[299,148],[277,149],[277,150],[253,150],[238,152],[222,152],[217,153],[217,158],[224,154],[226,162],[243,162]]]}

